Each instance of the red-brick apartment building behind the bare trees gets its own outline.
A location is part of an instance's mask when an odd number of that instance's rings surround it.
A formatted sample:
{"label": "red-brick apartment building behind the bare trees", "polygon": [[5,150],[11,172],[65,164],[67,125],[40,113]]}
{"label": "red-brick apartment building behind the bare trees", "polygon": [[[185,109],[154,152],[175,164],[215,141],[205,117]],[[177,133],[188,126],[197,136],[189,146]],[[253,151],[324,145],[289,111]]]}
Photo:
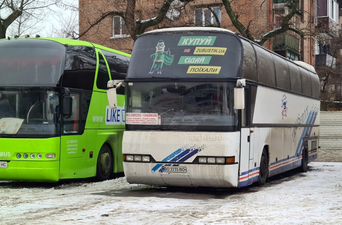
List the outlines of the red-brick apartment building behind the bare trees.
{"label": "red-brick apartment building behind the bare trees", "polygon": [[[137,0],[135,15],[137,19],[149,19],[155,17],[164,0]],[[281,16],[289,12],[286,3],[288,0],[239,0],[233,1],[232,6],[235,12],[239,12],[239,21],[249,28],[255,37],[280,26]],[[311,16],[315,15],[315,0],[301,0],[300,6],[305,13],[296,14],[292,18],[292,23],[299,28],[313,30],[315,24],[311,23]],[[271,5],[270,5],[271,4]],[[222,28],[232,31],[237,29],[232,25],[231,20],[222,4],[221,0],[195,0],[187,5],[180,1],[174,1],[166,18],[158,27],[179,27],[179,26],[217,26],[217,22],[210,6],[217,15]],[[79,0],[79,32],[88,29],[89,24],[100,17],[104,12],[117,11],[124,14],[126,2],[120,0]],[[146,30],[148,31],[148,30]],[[131,53],[133,38],[125,30],[124,22],[119,16],[108,16],[98,25],[90,29],[80,38],[84,41],[94,42],[109,48]],[[300,38],[294,32],[286,32],[272,38],[272,42],[265,42],[264,47],[276,51],[280,55],[292,60],[302,60],[311,65],[315,65],[315,41],[308,36]]]}

